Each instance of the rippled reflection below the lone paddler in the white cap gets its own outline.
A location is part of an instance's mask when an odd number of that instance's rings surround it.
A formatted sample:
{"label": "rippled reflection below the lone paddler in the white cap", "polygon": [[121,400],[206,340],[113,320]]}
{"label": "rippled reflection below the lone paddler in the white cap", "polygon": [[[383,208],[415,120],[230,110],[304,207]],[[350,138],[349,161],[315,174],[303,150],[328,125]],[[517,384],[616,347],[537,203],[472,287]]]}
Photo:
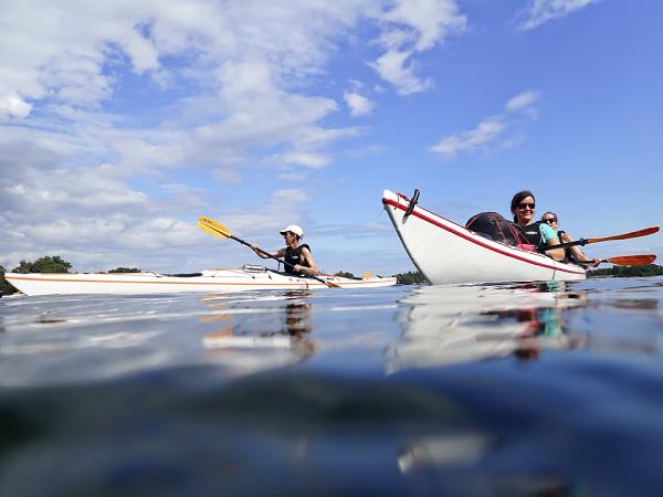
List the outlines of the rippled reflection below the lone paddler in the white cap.
{"label": "rippled reflection below the lone paddler in the white cap", "polygon": [[285,292],[210,304],[217,314],[203,319],[222,320],[224,326],[207,334],[203,346],[214,353],[215,362],[238,373],[302,362],[316,350],[309,338],[312,304],[305,302],[309,296],[308,292]]}

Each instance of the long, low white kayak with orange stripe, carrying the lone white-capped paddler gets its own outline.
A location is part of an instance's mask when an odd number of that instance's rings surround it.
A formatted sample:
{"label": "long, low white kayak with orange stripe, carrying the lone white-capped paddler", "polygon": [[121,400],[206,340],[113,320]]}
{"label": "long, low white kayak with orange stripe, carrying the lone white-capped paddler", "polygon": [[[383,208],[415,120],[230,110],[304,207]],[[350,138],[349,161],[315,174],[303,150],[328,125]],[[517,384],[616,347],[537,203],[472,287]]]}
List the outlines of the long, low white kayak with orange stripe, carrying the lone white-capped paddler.
{"label": "long, low white kayak with orange stripe, carrying the lone white-capped paddler", "polygon": [[[7,273],[4,278],[25,295],[173,294],[180,292],[244,292],[327,288],[322,282],[291,276],[263,266],[208,269],[192,274],[157,273]],[[396,285],[396,277],[345,278],[320,276],[341,288]]]}

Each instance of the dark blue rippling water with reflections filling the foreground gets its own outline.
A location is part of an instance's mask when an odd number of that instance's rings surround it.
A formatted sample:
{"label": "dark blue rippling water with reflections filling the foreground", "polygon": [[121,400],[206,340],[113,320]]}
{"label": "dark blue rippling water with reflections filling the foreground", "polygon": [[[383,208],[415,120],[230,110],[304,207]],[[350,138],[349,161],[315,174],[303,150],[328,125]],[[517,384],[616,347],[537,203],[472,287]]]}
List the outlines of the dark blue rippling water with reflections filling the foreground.
{"label": "dark blue rippling water with reflections filling the foreground", "polygon": [[0,299],[1,496],[663,495],[663,278]]}

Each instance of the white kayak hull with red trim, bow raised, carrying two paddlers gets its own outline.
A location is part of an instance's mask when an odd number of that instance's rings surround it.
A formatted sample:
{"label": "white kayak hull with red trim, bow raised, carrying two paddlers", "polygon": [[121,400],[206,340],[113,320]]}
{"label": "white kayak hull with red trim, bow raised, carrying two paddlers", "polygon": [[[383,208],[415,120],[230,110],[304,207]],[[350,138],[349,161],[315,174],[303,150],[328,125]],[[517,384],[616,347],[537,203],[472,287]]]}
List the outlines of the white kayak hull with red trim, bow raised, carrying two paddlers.
{"label": "white kayak hull with red trim, bow raised, carrying two paddlers", "polygon": [[572,282],[585,269],[545,254],[494,242],[385,190],[382,204],[408,255],[433,285],[501,282]]}

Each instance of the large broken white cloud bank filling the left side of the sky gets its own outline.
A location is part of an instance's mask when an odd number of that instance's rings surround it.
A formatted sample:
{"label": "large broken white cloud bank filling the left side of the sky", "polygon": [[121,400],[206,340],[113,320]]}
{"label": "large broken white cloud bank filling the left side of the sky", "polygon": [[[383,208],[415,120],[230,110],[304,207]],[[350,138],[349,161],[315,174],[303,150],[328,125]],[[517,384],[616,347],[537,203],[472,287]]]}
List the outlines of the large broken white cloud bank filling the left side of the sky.
{"label": "large broken white cloud bank filling the left side of the sky", "polygon": [[[432,86],[418,55],[465,22],[453,0],[3,2],[0,233],[13,234],[0,263],[35,247],[90,269],[198,253],[190,220],[213,186],[180,182],[241,184],[254,161],[314,175],[359,135],[329,125],[339,103],[316,86],[349,32],[377,28],[375,67],[408,94]],[[354,115],[375,106],[366,94],[352,84]],[[305,223],[304,202],[280,193],[230,220],[248,233]],[[137,255],[147,248],[158,254]]]}

